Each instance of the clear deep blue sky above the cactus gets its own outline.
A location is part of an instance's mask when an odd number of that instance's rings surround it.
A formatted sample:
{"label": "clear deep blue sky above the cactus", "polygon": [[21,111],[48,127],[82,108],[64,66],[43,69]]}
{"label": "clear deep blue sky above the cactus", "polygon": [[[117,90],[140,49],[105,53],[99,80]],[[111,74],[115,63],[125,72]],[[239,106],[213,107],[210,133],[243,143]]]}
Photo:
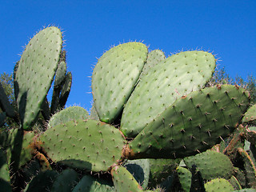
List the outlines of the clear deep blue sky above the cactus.
{"label": "clear deep blue sky above the cactus", "polygon": [[67,105],[90,110],[92,67],[119,42],[143,41],[166,55],[214,51],[231,77],[256,76],[256,1],[2,1],[0,66],[11,73],[23,46],[42,26],[64,32],[73,85]]}

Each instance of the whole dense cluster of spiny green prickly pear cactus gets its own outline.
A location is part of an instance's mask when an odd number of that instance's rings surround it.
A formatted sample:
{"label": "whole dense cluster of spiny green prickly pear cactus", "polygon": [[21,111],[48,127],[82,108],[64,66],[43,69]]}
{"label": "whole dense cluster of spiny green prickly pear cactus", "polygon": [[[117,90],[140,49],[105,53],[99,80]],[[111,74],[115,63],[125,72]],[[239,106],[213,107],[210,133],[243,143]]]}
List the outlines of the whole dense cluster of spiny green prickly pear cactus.
{"label": "whole dense cluster of spiny green prickly pear cactus", "polygon": [[255,191],[255,106],[247,111],[238,86],[206,87],[215,65],[202,50],[166,58],[141,42],[114,46],[94,67],[88,114],[64,109],[72,76],[62,33],[41,30],[14,68],[18,111],[0,86],[0,124],[20,125],[0,132],[1,189]]}

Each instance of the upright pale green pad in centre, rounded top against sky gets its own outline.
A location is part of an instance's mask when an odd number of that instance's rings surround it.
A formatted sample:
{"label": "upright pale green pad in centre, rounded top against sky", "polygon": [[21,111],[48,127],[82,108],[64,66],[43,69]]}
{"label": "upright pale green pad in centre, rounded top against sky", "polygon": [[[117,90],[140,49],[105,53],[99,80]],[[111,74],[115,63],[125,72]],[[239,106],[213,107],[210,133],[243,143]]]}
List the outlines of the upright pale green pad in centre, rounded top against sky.
{"label": "upright pale green pad in centre, rounded top against sky", "polygon": [[92,93],[102,122],[113,122],[122,111],[147,57],[141,42],[128,42],[108,50],[94,68]]}

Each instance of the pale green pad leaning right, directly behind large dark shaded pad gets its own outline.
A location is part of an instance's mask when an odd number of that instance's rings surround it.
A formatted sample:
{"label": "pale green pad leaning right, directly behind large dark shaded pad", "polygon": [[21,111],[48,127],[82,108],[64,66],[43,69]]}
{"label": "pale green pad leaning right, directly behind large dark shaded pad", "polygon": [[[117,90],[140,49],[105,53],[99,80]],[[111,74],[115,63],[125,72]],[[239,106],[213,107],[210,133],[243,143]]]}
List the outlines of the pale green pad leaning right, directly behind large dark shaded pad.
{"label": "pale green pad leaning right, directly behind large dark shaded pad", "polygon": [[134,138],[175,100],[205,86],[214,68],[214,56],[204,51],[174,54],[152,67],[126,103],[122,132]]}

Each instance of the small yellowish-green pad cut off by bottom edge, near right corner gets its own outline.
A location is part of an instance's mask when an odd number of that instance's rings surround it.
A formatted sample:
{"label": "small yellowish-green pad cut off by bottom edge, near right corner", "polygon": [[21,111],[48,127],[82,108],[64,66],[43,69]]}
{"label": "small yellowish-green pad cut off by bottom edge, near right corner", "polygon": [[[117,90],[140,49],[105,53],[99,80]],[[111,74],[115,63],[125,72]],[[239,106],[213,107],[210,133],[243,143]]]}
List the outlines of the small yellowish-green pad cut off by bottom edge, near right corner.
{"label": "small yellowish-green pad cut off by bottom edge, near right corner", "polygon": [[206,192],[216,192],[216,191],[225,191],[232,192],[234,191],[233,186],[230,182],[226,181],[224,178],[215,178],[210,182],[206,182],[205,184]]}

